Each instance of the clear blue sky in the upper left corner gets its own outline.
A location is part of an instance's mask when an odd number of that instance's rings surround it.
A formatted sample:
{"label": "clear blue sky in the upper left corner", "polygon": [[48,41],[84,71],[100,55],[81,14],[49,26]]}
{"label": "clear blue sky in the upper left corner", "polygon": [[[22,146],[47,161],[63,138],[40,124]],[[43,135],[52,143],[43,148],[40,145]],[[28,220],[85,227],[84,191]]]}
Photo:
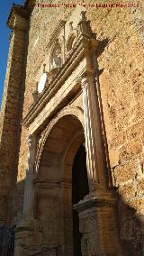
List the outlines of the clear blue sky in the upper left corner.
{"label": "clear blue sky in the upper left corner", "polygon": [[23,5],[24,0],[1,0],[0,3],[0,105],[2,102],[4,78],[11,30],[6,27],[8,14],[13,4]]}

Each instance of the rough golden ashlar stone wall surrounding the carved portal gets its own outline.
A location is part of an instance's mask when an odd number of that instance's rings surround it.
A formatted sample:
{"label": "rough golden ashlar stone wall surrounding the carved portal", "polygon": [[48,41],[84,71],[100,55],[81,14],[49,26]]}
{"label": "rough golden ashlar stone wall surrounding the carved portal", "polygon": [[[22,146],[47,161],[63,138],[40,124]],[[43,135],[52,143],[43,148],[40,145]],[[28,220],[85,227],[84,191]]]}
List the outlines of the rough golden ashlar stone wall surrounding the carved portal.
{"label": "rough golden ashlar stone wall surrounding the carved portal", "polygon": [[[65,2],[68,1],[63,1],[63,3]],[[86,3],[93,5],[95,1],[87,0]],[[124,1],[122,0],[121,3]],[[40,9],[38,5],[34,6],[30,17],[23,118],[33,102],[32,92],[36,88],[44,60],[49,54],[50,35],[59,20],[67,20],[73,11],[73,8],[45,7]],[[137,249],[141,231],[137,221],[138,216],[142,215],[144,211],[144,37],[142,32],[144,5],[141,1],[135,8],[87,7],[86,11],[97,39],[101,41],[101,47],[97,53],[99,84],[112,182],[120,195],[121,239],[124,244],[126,241],[127,244],[133,242],[135,250],[140,251],[141,249]],[[80,98],[75,104],[81,105],[81,101]],[[10,211],[11,219],[17,216],[15,222],[21,219],[23,209],[23,181],[28,152],[25,140],[27,133],[27,129],[22,127],[17,188],[15,188],[13,197],[14,213],[12,214]],[[21,184],[22,186],[20,186]]]}

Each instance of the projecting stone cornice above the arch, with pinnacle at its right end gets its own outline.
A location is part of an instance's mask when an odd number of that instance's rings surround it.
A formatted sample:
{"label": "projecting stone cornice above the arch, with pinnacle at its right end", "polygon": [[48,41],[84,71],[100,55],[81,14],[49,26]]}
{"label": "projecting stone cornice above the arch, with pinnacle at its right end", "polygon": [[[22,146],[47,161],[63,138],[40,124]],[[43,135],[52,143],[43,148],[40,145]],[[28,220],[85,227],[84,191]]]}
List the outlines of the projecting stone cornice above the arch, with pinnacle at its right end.
{"label": "projecting stone cornice above the arch, with pinnacle at its right end", "polygon": [[[65,21],[61,21],[61,25],[63,25],[63,23],[65,23]],[[85,66],[83,73],[94,73],[91,61],[89,61],[89,55],[94,54],[98,47],[99,41],[95,39],[95,35],[91,31],[90,24],[85,19],[85,13],[82,14],[82,20],[79,23],[79,26],[81,26],[81,32],[77,36],[73,50],[70,51],[67,59],[65,59],[64,64],[58,70],[55,78],[53,78],[49,84],[46,84],[46,87],[41,95],[38,96],[36,101],[31,105],[28,114],[23,118],[23,125],[28,127],[34,121],[34,119],[40,114],[43,107],[49,103],[49,100],[53,96],[55,96],[60,87],[63,86],[63,84],[67,81],[67,78],[71,76],[72,72],[75,71],[76,67],[83,59],[88,58],[87,65]]]}

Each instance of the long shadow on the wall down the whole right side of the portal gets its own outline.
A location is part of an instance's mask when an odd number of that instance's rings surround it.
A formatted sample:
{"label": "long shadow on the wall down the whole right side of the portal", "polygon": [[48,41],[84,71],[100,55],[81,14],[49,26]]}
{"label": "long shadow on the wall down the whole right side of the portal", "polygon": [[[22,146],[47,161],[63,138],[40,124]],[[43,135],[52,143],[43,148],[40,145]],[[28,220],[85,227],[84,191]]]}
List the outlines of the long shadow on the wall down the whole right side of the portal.
{"label": "long shadow on the wall down the whole right side of the portal", "polygon": [[[99,45],[99,49],[97,51],[96,56],[99,57],[105,50],[105,47],[108,46],[108,44],[111,41],[107,38],[101,41]],[[107,139],[106,139],[106,130],[104,126],[104,117],[103,117],[103,102],[102,102],[102,96],[101,96],[101,87],[99,82],[99,76],[103,73],[104,69],[99,69],[99,64],[97,61],[97,58],[95,58],[95,66],[98,70],[97,72],[97,78],[98,78],[98,92],[100,96],[100,108],[101,108],[101,116],[103,120],[103,140],[104,140],[104,147],[105,147],[105,155],[107,156],[107,167],[108,169],[111,169],[110,161],[109,161],[109,151],[108,151],[108,145],[107,145]],[[111,170],[109,171],[109,184],[112,185],[112,173]],[[113,187],[113,185],[112,185]],[[142,256],[144,255],[144,219],[136,214],[137,209],[132,208],[126,203],[126,200],[124,197],[121,196],[121,194],[118,191],[118,187],[113,187],[115,189],[118,201],[117,201],[117,209],[116,209],[116,215],[117,215],[117,224],[118,224],[118,230],[119,235],[121,239],[121,246],[124,256]]]}

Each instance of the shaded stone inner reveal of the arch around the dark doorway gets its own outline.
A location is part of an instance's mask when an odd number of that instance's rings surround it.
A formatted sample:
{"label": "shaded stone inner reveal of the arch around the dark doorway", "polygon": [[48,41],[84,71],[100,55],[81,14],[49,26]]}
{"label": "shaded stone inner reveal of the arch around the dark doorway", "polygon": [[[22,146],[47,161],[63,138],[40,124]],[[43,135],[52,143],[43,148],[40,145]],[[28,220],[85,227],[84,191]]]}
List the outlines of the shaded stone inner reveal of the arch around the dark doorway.
{"label": "shaded stone inner reveal of the arch around the dark doorway", "polygon": [[84,128],[76,115],[58,119],[47,133],[34,181],[34,217],[47,226],[43,242],[61,246],[67,255],[73,251],[72,166],[84,142]]}

